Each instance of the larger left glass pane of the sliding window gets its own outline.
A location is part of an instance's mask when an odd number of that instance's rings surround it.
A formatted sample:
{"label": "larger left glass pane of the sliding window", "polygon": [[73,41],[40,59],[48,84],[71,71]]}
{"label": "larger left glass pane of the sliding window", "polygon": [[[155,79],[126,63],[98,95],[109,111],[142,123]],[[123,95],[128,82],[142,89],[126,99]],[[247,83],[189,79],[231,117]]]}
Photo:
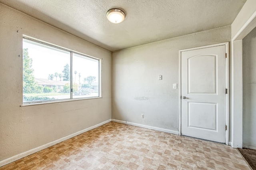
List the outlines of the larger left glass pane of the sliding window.
{"label": "larger left glass pane of the sliding window", "polygon": [[23,39],[23,103],[70,99],[70,52]]}

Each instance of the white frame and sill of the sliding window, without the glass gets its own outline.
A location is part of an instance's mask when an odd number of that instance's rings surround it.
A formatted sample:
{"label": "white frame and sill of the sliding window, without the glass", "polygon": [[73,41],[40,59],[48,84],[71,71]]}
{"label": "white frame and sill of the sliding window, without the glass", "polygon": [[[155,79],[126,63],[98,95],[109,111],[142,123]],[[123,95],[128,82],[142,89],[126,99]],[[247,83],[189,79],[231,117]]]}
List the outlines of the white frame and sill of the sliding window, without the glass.
{"label": "white frame and sill of the sliding window, without the glass", "polygon": [[[36,43],[40,43],[42,45],[46,45],[48,47],[52,47],[53,49],[60,49],[63,51],[67,51],[70,53],[70,98],[69,99],[56,99],[56,100],[46,100],[46,101],[30,101],[30,102],[24,102],[23,101],[23,83],[22,83],[22,105],[20,105],[20,107],[23,106],[30,106],[30,105],[42,105],[42,104],[50,104],[50,103],[60,103],[60,102],[67,102],[67,101],[77,101],[77,100],[86,100],[86,99],[97,99],[97,98],[102,98],[101,96],[101,62],[102,59],[96,58],[96,57],[92,57],[90,55],[86,55],[84,53],[80,53],[78,51],[74,51],[72,49],[68,49],[65,47],[61,47],[59,45],[55,45],[53,43],[49,43],[49,42],[45,42],[36,38],[32,38],[30,36],[26,36],[23,35],[22,36],[22,51],[23,51],[23,41],[28,40],[28,41],[32,41],[32,42],[36,42]],[[97,96],[93,96],[93,97],[79,97],[79,98],[73,98],[73,53],[77,54],[77,55],[82,55],[85,58],[89,58],[89,59],[93,59],[93,60],[97,60],[98,61],[98,95]],[[22,57],[22,77],[23,77],[23,57]],[[23,78],[22,78],[23,80]]]}

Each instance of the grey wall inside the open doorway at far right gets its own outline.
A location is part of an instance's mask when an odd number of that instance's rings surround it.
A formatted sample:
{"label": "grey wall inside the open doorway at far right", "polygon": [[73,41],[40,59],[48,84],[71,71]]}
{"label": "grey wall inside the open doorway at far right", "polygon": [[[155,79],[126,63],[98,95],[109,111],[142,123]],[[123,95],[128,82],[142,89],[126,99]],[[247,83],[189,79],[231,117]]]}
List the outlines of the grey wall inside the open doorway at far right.
{"label": "grey wall inside the open doorway at far right", "polygon": [[243,146],[256,149],[256,28],[243,39]]}

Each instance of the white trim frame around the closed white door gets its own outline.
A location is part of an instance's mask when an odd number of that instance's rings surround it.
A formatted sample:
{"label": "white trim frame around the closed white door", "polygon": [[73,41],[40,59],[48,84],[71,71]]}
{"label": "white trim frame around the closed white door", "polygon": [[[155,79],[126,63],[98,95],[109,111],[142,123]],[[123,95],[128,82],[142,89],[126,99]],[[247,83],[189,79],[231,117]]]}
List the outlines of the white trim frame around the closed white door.
{"label": "white trim frame around the closed white door", "polygon": [[[225,75],[226,75],[226,89],[228,89],[228,93],[226,94],[226,144],[229,144],[229,94],[230,94],[230,88],[229,88],[229,42],[224,43],[217,43],[212,45],[206,45],[201,47],[194,47],[189,49],[181,49],[179,50],[179,135],[181,135],[182,129],[181,129],[181,53],[183,51],[191,51],[195,49],[203,49],[208,47],[216,47],[220,45],[225,45],[226,49],[226,63],[225,63]],[[225,127],[223,127],[225,128]]]}

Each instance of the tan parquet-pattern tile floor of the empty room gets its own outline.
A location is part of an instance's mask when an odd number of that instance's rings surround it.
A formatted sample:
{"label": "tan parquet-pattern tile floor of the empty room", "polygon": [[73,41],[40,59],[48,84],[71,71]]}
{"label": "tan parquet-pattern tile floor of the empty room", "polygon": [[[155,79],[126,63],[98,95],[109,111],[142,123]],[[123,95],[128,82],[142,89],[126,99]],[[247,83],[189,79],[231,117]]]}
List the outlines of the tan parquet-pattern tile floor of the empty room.
{"label": "tan parquet-pattern tile floor of the empty room", "polygon": [[0,170],[250,170],[238,150],[210,141],[110,122]]}

